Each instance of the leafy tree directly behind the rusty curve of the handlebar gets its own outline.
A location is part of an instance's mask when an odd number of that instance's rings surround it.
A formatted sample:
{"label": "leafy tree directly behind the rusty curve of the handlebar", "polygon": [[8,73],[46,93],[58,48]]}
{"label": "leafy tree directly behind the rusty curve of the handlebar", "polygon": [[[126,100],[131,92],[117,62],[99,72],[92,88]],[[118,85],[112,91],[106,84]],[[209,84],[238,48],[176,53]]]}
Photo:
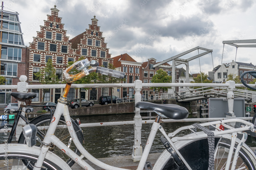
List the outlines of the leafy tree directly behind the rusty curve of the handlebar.
{"label": "leafy tree directly behind the rusty curve of the handlebar", "polygon": [[[78,61],[81,61],[81,60],[83,60],[83,59],[85,59],[84,58],[84,56],[82,56],[82,57],[80,57],[79,59],[78,59]],[[77,62],[77,61],[76,61]],[[72,62],[72,61],[70,61],[70,62],[68,62],[68,67],[69,66],[71,66],[72,64],[73,64],[74,62]],[[89,68],[90,68],[90,66],[89,66]],[[73,69],[72,71],[72,74],[73,75],[75,75],[75,74],[77,74],[77,73],[79,73],[79,72],[81,72],[81,71],[78,71],[78,70],[76,70],[76,69]],[[96,81],[97,81],[97,79],[98,79],[98,74],[97,73],[95,73],[95,72],[92,72],[92,73],[90,73],[89,75],[87,75],[87,76],[84,76],[84,77],[82,77],[81,79],[79,79],[79,80],[77,80],[77,81],[75,81],[75,82],[73,82],[74,84],[92,84],[92,83],[95,83]],[[63,81],[64,83],[66,83],[66,81]],[[80,108],[82,107],[82,103],[81,103],[81,88],[78,88],[79,89],[79,105],[80,105]],[[85,90],[88,90],[88,89],[90,89],[90,88],[84,88]]]}

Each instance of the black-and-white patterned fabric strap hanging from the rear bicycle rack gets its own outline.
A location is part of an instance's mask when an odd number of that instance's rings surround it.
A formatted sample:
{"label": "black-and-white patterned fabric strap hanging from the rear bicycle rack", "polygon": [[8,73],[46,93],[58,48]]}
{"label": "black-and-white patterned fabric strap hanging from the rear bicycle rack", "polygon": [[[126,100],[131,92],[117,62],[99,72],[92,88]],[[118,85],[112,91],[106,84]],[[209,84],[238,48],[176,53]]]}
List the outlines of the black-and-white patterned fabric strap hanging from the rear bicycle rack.
{"label": "black-and-white patterned fabric strap hanging from the rear bicycle rack", "polygon": [[202,131],[204,131],[204,133],[207,134],[209,145],[209,170],[214,170],[214,133],[206,127],[201,126],[197,123],[193,124],[192,126],[201,129]]}

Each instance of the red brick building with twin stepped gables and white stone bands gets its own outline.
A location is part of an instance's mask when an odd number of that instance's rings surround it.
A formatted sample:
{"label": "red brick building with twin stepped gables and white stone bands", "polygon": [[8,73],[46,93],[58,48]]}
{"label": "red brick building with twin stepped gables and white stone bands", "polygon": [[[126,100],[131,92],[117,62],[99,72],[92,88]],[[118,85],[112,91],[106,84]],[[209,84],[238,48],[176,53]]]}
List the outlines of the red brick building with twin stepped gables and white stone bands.
{"label": "red brick building with twin stepped gables and white stone bands", "polygon": [[[61,17],[58,16],[58,13],[59,10],[56,5],[51,8],[51,15],[47,15],[44,26],[40,26],[40,31],[37,31],[37,36],[33,37],[33,42],[28,47],[27,68],[29,73],[27,76],[29,84],[40,84],[35,73],[46,66],[48,59],[52,59],[56,75],[61,81],[64,80],[62,73],[67,68],[68,62],[76,62],[81,56],[89,61],[96,60],[104,67],[108,67],[108,63],[113,63],[95,16],[91,19],[92,24],[89,24],[89,29],[69,40],[69,37],[66,36],[67,30],[64,30],[64,24],[61,23]],[[47,90],[44,102],[57,102],[62,90]],[[77,98],[79,96],[78,91],[71,88],[68,100]],[[37,93],[33,103],[42,102],[43,93],[41,90],[31,89],[31,92]],[[81,94],[82,98],[97,100],[101,90],[91,88],[89,91],[82,90]]]}

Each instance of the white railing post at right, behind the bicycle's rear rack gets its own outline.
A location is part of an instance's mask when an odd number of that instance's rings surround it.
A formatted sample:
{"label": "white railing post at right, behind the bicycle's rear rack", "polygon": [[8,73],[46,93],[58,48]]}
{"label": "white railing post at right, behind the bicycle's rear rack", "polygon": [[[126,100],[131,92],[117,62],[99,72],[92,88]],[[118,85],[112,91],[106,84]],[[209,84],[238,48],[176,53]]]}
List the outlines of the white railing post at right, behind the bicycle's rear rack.
{"label": "white railing post at right, behind the bicycle's rear rack", "polygon": [[[236,119],[236,116],[234,115],[233,106],[234,106],[234,88],[236,88],[236,84],[234,81],[227,81],[226,84],[229,86],[227,87],[228,93],[227,93],[227,100],[228,100],[228,112],[230,115],[226,114],[226,117],[229,119]],[[230,126],[234,127],[236,123],[230,123]]]}

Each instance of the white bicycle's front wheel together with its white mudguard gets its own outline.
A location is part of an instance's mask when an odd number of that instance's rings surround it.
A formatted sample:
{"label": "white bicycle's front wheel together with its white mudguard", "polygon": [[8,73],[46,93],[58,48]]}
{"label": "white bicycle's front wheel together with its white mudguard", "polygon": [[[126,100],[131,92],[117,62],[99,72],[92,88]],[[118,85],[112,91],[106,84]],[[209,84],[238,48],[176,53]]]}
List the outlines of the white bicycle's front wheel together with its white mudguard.
{"label": "white bicycle's front wheel together with its white mudguard", "polygon": [[[4,148],[8,148],[8,151],[4,151]],[[40,153],[40,148],[38,147],[28,147],[23,144],[8,144],[7,146],[0,145],[0,169],[1,170],[32,170],[38,159]],[[7,154],[6,154],[7,153]],[[16,160],[16,161],[15,161]],[[15,166],[13,165],[14,163]],[[67,169],[65,162],[58,158],[55,154],[48,152],[44,159],[41,169]]]}

